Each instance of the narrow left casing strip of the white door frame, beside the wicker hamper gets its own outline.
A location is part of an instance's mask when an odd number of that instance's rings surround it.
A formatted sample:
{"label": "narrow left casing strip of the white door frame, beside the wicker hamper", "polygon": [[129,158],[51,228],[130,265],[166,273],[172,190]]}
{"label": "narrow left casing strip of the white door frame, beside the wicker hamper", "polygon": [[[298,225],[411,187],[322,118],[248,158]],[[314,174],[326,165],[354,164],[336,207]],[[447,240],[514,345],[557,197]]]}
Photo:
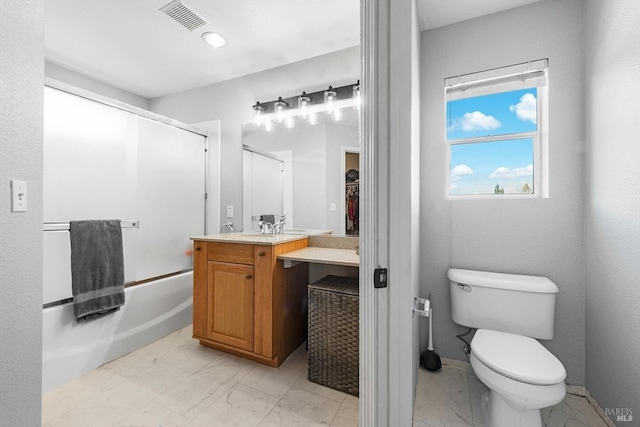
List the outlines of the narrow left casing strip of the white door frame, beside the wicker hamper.
{"label": "narrow left casing strip of the white door frame, beside the wicker hamper", "polygon": [[[387,37],[379,32],[378,7],[389,0],[361,0],[362,106],[360,108],[360,426],[388,425],[387,290],[374,289],[374,269],[386,267],[387,222],[378,222],[378,188],[388,182],[378,167],[377,148],[386,143],[388,85],[382,64],[388,64]],[[382,24],[384,27],[384,24]],[[380,50],[380,53],[378,53]],[[379,65],[380,64],[380,65]],[[383,74],[382,76],[380,74]],[[382,198],[382,200],[379,200]],[[381,212],[384,216],[384,212]],[[377,242],[382,239],[382,242]],[[381,262],[382,261],[382,262]]]}

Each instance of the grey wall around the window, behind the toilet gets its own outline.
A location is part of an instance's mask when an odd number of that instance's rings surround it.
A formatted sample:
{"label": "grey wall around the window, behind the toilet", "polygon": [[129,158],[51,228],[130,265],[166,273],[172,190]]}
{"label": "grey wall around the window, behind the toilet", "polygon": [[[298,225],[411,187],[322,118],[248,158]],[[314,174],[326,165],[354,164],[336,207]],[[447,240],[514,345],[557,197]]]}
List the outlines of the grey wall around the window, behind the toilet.
{"label": "grey wall around the window, behind the toilet", "polygon": [[[451,319],[450,267],[542,275],[560,288],[544,344],[567,382],[584,384],[582,20],[581,1],[543,1],[422,33],[421,279],[441,356],[468,360],[455,337],[465,328]],[[550,197],[445,200],[444,79],[540,58],[550,64]]]}

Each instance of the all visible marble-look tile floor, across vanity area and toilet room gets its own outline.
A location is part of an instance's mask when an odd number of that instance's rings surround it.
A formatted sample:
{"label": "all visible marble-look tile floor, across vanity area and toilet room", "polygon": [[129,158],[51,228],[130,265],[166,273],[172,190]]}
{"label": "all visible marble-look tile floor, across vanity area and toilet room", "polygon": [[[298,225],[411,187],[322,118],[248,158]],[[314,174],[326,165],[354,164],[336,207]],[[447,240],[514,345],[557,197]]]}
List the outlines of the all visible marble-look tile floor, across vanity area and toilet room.
{"label": "all visible marble-look tile floor, across vanity area and toilet room", "polygon": [[[304,346],[278,369],[201,346],[191,326],[43,396],[45,427],[358,425],[358,399],[307,380]],[[420,369],[414,427],[483,426],[471,368]],[[547,427],[606,427],[583,397],[543,412]]]}

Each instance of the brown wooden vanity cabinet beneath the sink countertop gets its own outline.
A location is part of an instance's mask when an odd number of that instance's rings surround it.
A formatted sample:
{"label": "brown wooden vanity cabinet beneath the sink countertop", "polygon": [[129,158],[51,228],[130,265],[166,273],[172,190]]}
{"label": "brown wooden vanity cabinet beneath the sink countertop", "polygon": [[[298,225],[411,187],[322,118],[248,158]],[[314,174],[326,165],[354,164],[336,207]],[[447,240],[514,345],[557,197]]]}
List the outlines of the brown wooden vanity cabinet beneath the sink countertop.
{"label": "brown wooden vanity cabinet beneath the sink countertop", "polygon": [[202,345],[279,366],[306,337],[307,264],[284,269],[277,245],[194,241],[193,336]]}

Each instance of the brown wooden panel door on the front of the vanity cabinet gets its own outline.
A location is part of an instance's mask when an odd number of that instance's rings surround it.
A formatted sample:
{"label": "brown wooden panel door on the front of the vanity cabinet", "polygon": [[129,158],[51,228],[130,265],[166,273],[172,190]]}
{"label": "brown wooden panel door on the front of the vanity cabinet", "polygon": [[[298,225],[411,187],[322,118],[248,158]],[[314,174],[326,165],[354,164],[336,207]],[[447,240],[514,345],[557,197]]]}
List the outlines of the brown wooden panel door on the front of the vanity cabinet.
{"label": "brown wooden panel door on the front of the vanity cabinet", "polygon": [[208,265],[207,338],[253,351],[253,266]]}

